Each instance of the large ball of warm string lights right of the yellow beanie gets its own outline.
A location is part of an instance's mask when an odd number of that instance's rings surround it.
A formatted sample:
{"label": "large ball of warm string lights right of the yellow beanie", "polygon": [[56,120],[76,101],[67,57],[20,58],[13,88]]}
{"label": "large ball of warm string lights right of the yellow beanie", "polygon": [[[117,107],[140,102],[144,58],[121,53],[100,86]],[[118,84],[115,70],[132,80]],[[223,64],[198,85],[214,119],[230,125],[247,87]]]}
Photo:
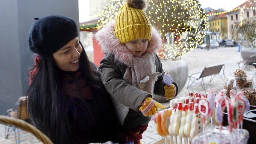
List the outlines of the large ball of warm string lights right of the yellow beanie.
{"label": "large ball of warm string lights right of the yellow beanie", "polygon": [[197,0],[150,0],[148,16],[163,35],[160,58],[177,58],[201,44],[208,21]]}

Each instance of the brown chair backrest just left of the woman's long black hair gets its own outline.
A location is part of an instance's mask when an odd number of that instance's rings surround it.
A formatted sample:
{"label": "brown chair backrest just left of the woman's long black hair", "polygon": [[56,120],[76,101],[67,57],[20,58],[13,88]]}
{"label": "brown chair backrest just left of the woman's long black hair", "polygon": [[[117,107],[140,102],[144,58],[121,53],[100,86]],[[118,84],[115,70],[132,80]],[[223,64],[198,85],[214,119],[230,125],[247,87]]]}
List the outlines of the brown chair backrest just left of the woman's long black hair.
{"label": "brown chair backrest just left of the woman's long black hair", "polygon": [[25,119],[28,119],[29,118],[29,115],[28,115],[28,111],[27,111],[27,97],[20,97],[19,98],[19,101],[15,104],[17,107],[16,107],[16,114],[17,114],[17,117],[18,119],[22,119],[22,120],[25,120]]}

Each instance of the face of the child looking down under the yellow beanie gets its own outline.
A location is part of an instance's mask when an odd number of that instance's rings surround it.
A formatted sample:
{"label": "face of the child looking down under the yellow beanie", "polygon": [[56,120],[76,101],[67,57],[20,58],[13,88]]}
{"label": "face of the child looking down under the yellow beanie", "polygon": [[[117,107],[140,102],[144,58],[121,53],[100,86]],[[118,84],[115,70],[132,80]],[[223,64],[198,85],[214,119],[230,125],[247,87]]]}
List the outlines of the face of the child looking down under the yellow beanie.
{"label": "face of the child looking down under the yellow beanie", "polygon": [[148,47],[148,40],[146,38],[134,39],[124,43],[130,50],[134,57],[141,57]]}

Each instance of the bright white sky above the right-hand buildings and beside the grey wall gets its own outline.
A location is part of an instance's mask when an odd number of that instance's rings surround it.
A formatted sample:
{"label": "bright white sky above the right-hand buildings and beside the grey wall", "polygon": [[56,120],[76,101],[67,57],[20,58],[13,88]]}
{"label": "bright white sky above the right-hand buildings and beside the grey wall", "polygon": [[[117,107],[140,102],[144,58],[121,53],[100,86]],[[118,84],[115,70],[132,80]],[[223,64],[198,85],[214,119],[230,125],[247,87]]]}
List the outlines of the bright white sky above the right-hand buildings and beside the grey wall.
{"label": "bright white sky above the right-hand buildings and beside the grey wall", "polygon": [[[226,11],[232,10],[235,7],[246,2],[246,0],[199,0],[202,8],[211,7],[215,10],[222,8]],[[90,20],[89,0],[78,0],[79,4],[79,22]]]}

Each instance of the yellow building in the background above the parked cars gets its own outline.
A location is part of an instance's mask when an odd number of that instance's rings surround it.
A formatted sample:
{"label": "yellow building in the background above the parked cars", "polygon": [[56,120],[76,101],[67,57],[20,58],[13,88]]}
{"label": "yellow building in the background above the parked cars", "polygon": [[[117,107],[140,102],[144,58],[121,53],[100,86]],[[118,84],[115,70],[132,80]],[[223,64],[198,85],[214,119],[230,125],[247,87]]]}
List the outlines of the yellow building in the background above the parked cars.
{"label": "yellow building in the background above the parked cars", "polygon": [[218,34],[216,39],[228,38],[228,25],[226,14],[219,14],[209,19],[209,30]]}

